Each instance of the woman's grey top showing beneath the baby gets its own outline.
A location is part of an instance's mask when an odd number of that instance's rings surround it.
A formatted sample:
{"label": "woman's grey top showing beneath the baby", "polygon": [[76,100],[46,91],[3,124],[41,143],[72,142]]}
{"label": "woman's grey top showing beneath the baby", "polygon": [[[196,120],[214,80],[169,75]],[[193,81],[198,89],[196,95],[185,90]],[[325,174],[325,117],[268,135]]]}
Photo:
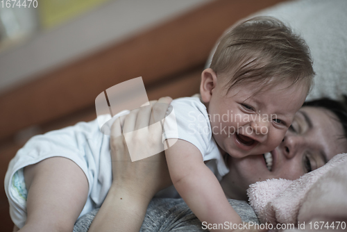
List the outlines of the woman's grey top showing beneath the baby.
{"label": "woman's grey top showing beneath the baby", "polygon": [[[232,208],[243,222],[259,223],[251,206],[246,201],[229,199]],[[83,215],[75,224],[74,232],[87,232],[99,209]],[[141,232],[161,231],[207,231],[192,213],[183,199],[153,199],[147,208]]]}

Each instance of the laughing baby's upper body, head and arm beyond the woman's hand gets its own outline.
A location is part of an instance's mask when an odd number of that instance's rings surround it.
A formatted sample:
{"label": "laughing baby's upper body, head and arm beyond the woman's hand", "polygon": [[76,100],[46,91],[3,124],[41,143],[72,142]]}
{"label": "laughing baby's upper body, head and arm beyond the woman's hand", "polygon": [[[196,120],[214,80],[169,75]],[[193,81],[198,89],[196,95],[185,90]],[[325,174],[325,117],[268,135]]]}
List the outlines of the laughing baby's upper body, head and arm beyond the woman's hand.
{"label": "laughing baby's upper body, head and arm beyond the woman's hand", "polygon": [[305,43],[276,19],[257,17],[223,35],[201,75],[201,96],[172,101],[178,136],[165,133],[178,140],[165,151],[167,165],[201,222],[242,222],[219,184],[228,173],[223,160],[267,152],[271,171],[269,151],[285,137],[313,76]]}

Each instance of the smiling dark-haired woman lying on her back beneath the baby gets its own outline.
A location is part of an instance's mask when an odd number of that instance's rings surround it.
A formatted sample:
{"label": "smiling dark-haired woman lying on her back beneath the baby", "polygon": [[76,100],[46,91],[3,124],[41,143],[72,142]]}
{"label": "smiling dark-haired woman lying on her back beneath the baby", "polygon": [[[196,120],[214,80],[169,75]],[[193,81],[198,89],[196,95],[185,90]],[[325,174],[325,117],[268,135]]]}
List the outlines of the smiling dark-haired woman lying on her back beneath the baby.
{"label": "smiling dark-haired woman lying on her back beneath the baby", "polygon": [[[171,99],[162,98],[158,102],[169,103]],[[153,108],[157,108],[153,110],[153,113],[157,114],[154,115],[155,117],[160,117],[166,112],[166,108],[158,111],[159,105],[156,103],[153,106]],[[137,119],[151,114],[151,112],[144,111],[137,113],[139,115]],[[127,119],[130,127],[133,126],[135,129],[136,117]],[[149,133],[153,133],[153,131],[149,131]],[[89,231],[139,231],[151,198],[155,192],[170,184],[162,154],[131,163],[126,144],[120,135],[119,124],[114,124],[112,126],[112,160],[115,163],[113,163],[112,172],[115,179],[108,192],[108,197],[104,201],[105,204],[101,206]],[[294,122],[280,146],[271,152],[274,157],[271,172],[266,168],[262,155],[247,156],[242,159],[230,158],[228,160],[230,172],[223,177],[221,185],[223,187],[223,183],[232,181],[234,186],[228,189],[223,188],[223,190],[229,198],[246,200],[246,188],[255,181],[280,177],[297,179],[305,172],[321,167],[336,154],[346,152],[346,135],[347,110],[345,106],[328,99],[308,102],[296,114]],[[142,138],[133,137],[131,140],[132,144],[136,145]],[[161,209],[153,210],[160,212],[160,210],[171,207],[168,206],[168,202],[165,202],[166,206],[160,206]],[[153,228],[149,231],[158,229],[160,215],[146,217],[146,219],[144,226],[147,224],[147,229],[148,224],[153,224]],[[177,218],[175,220],[177,221]],[[85,221],[83,218],[80,219],[75,230],[83,231],[78,226],[81,224],[87,226],[87,221],[88,219]],[[160,223],[162,224],[157,231],[167,230],[167,222],[161,221]],[[195,225],[192,225],[194,223]],[[156,228],[154,228],[155,224],[157,224]],[[189,231],[192,231],[192,228],[201,230],[201,222],[196,220],[187,222],[185,225],[191,226]],[[183,230],[182,227],[180,229]],[[87,228],[84,231],[86,230]]]}

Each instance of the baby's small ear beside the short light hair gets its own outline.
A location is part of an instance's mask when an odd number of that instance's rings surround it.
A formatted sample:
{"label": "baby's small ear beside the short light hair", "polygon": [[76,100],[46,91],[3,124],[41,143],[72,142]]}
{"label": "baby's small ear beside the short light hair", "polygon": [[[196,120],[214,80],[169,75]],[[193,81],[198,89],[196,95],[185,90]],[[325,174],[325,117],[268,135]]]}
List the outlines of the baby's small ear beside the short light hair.
{"label": "baby's small ear beside the short light hair", "polygon": [[201,74],[200,94],[203,102],[208,103],[212,97],[212,90],[217,86],[217,74],[210,68]]}

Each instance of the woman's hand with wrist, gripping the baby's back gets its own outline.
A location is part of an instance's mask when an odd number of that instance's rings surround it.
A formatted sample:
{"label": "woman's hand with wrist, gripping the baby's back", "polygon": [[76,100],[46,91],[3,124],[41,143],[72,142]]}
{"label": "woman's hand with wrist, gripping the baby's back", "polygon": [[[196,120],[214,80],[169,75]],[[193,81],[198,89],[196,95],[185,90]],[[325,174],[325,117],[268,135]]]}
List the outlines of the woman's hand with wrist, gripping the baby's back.
{"label": "woman's hand with wrist, gripping the baby's back", "polygon": [[[152,199],[156,192],[172,184],[164,151],[154,156],[151,154],[160,147],[163,149],[159,121],[164,119],[171,101],[169,97],[151,101],[150,106],[133,110],[112,124],[112,188],[122,188],[133,197]],[[137,161],[132,162],[130,155]]]}

